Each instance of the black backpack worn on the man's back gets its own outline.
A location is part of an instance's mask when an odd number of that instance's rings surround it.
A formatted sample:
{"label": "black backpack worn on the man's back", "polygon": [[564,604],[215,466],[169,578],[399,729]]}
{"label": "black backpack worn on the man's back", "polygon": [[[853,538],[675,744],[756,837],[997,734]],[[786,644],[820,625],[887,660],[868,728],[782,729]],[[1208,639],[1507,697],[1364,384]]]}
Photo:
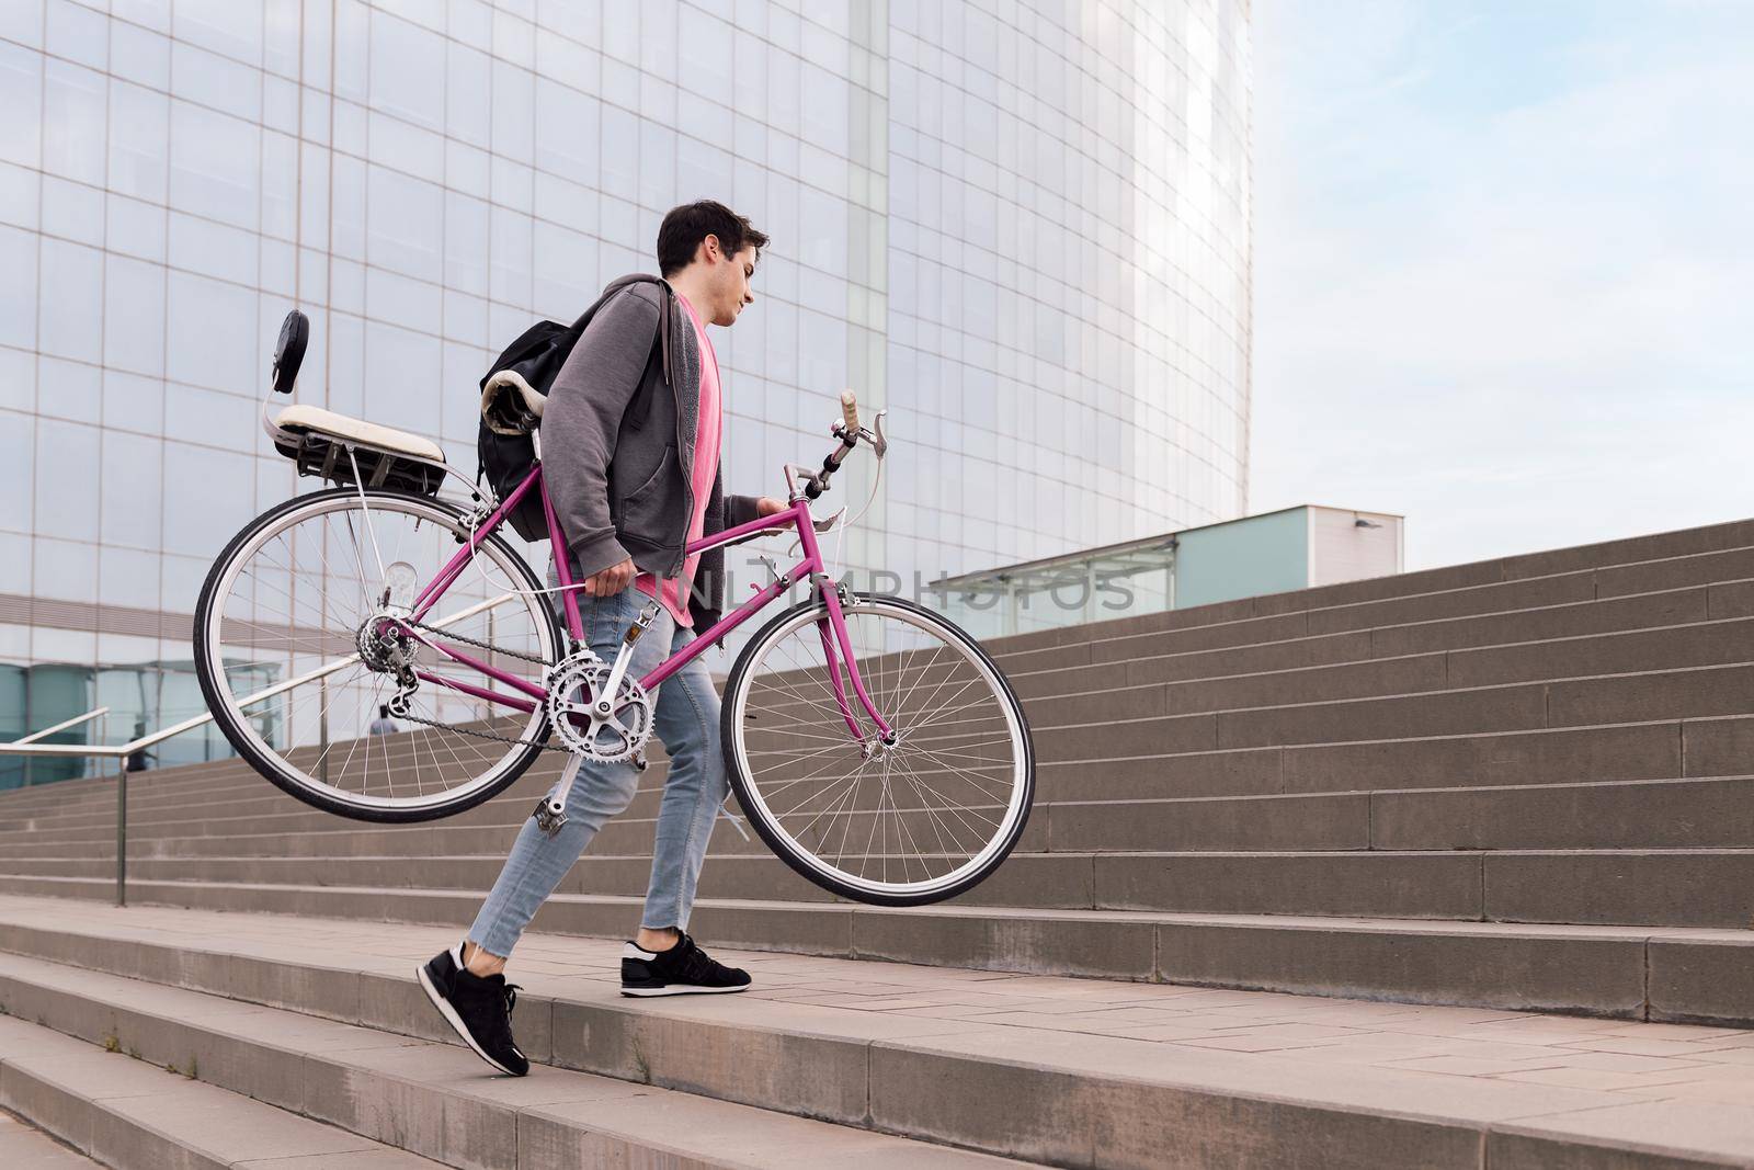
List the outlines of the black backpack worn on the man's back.
{"label": "black backpack worn on the man's back", "polygon": [[[670,305],[675,291],[663,277],[645,274],[610,281],[603,295],[572,325],[561,325],[560,321],[538,321],[531,325],[516,342],[505,347],[505,353],[498,356],[493,368],[482,375],[481,428],[475,437],[475,454],[479,458],[475,482],[481,484],[481,477],[486,475],[488,486],[493,488],[493,495],[500,502],[505,502],[517,489],[517,484],[530,475],[530,468],[537,463],[537,447],[531,433],[542,424],[540,407],[531,410],[523,389],[528,388],[538,398],[545,400],[554,377],[567,365],[567,356],[579,344],[579,337],[591,323],[591,317],[596,316],[596,310],[628,284],[640,282],[661,284],[665,291],[665,309],[658,314],[658,337],[652,340],[645,370],[649,374],[654,361],[661,363],[663,381],[668,386],[674,374],[674,367],[670,365]],[[649,379],[642,375],[640,381],[645,384]],[[628,405],[628,416],[635,426],[645,421],[649,409],[651,395],[635,396]],[[547,516],[542,512],[540,491],[528,491],[507,519],[524,540],[535,544],[547,540]]]}

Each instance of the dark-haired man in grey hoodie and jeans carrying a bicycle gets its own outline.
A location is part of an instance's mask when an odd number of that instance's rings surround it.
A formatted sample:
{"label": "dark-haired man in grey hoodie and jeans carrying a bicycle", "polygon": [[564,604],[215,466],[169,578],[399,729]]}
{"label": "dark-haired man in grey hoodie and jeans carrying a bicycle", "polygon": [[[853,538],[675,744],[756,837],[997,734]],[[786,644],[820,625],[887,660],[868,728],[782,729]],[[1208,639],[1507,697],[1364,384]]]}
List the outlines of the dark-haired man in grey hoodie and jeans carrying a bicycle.
{"label": "dark-haired man in grey hoodie and jeans carrying a bicycle", "polygon": [[[719,617],[723,549],[684,558],[684,546],[784,509],[770,496],[721,493],[719,365],[707,337],[707,325],[735,325],[754,302],[749,279],[766,242],[723,203],[674,209],[658,230],[663,281],[623,277],[610,284],[612,295],[549,388],[544,481],[574,581],[584,582],[579,616],[586,640],[614,661],[640,609],[649,603],[658,610],[635,642],[631,677]],[[558,584],[551,565],[549,588]],[[558,596],[549,600],[560,607]],[[719,695],[705,661],[695,658],[652,698],[652,730],[670,770],[645,910],[638,933],[623,947],[621,991],[744,991],[749,975],[709,958],[686,931],[707,840],[728,791]],[[505,960],[596,830],[633,800],[637,777],[631,761],[579,767],[561,828],[549,835],[524,821],[467,938],[419,968],[433,1005],[502,1072],[521,1077],[530,1070],[512,1038],[517,984],[505,982]]]}

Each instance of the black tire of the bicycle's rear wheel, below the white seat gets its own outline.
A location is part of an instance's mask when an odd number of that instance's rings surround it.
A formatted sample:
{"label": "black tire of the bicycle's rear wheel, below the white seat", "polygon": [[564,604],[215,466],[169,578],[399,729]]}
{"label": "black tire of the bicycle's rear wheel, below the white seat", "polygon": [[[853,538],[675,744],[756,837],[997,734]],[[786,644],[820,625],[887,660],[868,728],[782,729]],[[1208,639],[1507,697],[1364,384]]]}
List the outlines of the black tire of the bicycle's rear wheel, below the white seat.
{"label": "black tire of the bicycle's rear wheel, below the white seat", "polygon": [[[470,809],[493,800],[507,788],[516,784],[519,777],[523,777],[523,774],[530,770],[530,765],[535,763],[537,756],[542,754],[542,744],[547,742],[551,730],[547,716],[542,717],[542,724],[537,731],[535,742],[526,744],[519,758],[507,770],[505,777],[495,781],[493,784],[477,789],[474,793],[468,793],[465,796],[458,796],[456,800],[433,805],[431,809],[372,809],[335,800],[333,796],[310,791],[305,786],[298,784],[296,781],[282,777],[279,774],[279,768],[268,765],[261,756],[261,753],[256,749],[256,746],[251,742],[251,738],[233,724],[230,705],[225,702],[217,702],[217,686],[207,668],[207,660],[209,660],[207,617],[212,609],[212,595],[219,586],[219,577],[223,575],[221,570],[230,563],[239,546],[247,542],[260,528],[272,524],[275,519],[279,519],[281,516],[296,507],[309,505],[312,500],[332,498],[332,496],[358,496],[358,495],[360,495],[358,488],[330,488],[326,491],[309,491],[302,496],[291,496],[289,500],[275,503],[272,509],[268,509],[256,519],[244,524],[244,528],[240,528],[239,533],[226,542],[225,549],[219,553],[217,558],[214,558],[212,567],[207,570],[207,581],[202,582],[200,598],[195,602],[195,677],[202,686],[202,698],[207,702],[207,710],[212,714],[214,723],[219,726],[219,731],[225,733],[226,740],[232,744],[232,749],[237,751],[237,754],[246,763],[249,763],[249,767],[254,768],[261,779],[268,781],[288,796],[293,796],[295,800],[310,805],[312,809],[317,809],[321,812],[333,812],[335,816],[347,817],[349,821],[365,821],[370,824],[417,824],[424,821],[442,821],[444,817],[451,817],[460,812],[468,812]],[[463,510],[458,509],[456,505],[433,496],[423,496],[412,491],[367,488],[365,498],[417,500],[419,503],[424,503],[428,507],[449,512],[454,519],[463,517]],[[503,553],[509,554],[510,563],[516,565],[517,572],[523,574],[528,588],[531,589],[544,588],[542,581],[537,579],[535,570],[530,568],[530,563],[503,537],[500,537],[500,533],[496,531],[488,533],[484,542],[496,544]],[[540,610],[549,624],[549,631],[554,635],[554,646],[565,647],[567,640],[561,635],[560,619],[554,616],[554,609],[551,605],[542,605]]]}

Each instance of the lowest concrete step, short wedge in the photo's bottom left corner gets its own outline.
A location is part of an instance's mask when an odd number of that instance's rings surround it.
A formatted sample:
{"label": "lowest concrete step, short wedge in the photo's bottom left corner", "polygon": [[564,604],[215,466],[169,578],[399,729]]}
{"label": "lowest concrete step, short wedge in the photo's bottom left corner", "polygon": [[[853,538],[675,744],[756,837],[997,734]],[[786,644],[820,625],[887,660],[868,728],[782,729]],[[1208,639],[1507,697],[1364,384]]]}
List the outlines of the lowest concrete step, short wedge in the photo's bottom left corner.
{"label": "lowest concrete step, short wedge in the photo's bottom left corner", "polygon": [[[103,1058],[102,1063],[98,1058]],[[109,1061],[116,1065],[107,1068]],[[100,1042],[86,1042],[47,1024],[0,1014],[0,1105],[98,1165],[177,1165],[191,1170],[256,1166],[267,1159],[286,1158],[289,1135],[303,1137],[314,1147],[298,1152],[389,1154],[396,1170],[428,1166],[438,1170],[444,1165],[416,1154],[395,1158],[393,1145],[344,1133],[242,1093],[170,1072],[133,1059],[123,1051],[105,1051]],[[137,1091],[112,1093],[111,1088],[118,1079]],[[151,1112],[130,1109],[130,1105],[154,1103],[177,1107]],[[260,1151],[244,1158],[210,1154],[214,1126],[207,1112],[210,1109],[225,1109],[258,1130]]]}

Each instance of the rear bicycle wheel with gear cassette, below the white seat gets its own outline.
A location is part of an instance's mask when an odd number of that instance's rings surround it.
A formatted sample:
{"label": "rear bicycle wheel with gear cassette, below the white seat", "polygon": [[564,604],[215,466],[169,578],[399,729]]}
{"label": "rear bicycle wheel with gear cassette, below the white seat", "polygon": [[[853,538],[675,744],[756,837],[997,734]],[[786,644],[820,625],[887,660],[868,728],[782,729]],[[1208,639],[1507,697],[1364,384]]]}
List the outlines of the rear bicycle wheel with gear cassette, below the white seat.
{"label": "rear bicycle wheel with gear cassette, below the white seat", "polygon": [[195,607],[195,670],[237,753],[298,800],[360,821],[446,817],[512,784],[547,738],[540,702],[524,712],[421,681],[409,710],[372,733],[398,689],[398,656],[509,693],[431,644],[538,686],[561,653],[554,612],[526,593],[542,582],[498,535],[423,614],[424,642],[374,642],[465,537],[449,503],[367,489],[361,505],[353,488],[288,500],[233,537]]}

